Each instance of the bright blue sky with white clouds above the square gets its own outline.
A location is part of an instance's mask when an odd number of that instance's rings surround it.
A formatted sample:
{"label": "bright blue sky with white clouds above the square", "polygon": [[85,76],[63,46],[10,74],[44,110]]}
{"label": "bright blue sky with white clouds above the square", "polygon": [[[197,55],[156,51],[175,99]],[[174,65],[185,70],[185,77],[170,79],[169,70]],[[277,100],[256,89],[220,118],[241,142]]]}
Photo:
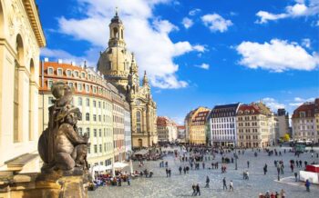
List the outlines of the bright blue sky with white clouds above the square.
{"label": "bright blue sky with white clouds above the square", "polygon": [[262,100],[290,113],[319,96],[319,0],[37,0],[43,57],[95,66],[115,7],[158,114]]}

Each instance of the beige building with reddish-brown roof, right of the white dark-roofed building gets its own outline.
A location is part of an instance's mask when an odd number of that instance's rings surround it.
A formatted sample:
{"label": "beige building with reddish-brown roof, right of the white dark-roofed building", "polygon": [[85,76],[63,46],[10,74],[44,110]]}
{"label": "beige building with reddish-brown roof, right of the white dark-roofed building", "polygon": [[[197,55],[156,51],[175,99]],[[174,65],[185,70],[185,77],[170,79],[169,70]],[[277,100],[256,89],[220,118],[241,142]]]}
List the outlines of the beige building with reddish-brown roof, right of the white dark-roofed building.
{"label": "beige building with reddish-brown roof, right of the white dark-roofed building", "polygon": [[275,118],[262,103],[242,104],[237,112],[238,146],[253,148],[273,144]]}

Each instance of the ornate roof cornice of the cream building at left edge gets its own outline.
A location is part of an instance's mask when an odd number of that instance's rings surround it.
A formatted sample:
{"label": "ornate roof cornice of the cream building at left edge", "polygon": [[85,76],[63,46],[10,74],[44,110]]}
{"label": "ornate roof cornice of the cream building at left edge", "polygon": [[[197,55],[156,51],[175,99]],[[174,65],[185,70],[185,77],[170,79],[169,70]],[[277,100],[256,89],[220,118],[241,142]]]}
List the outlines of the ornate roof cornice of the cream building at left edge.
{"label": "ornate roof cornice of the cream building at left edge", "polygon": [[40,47],[46,46],[46,37],[43,33],[40,18],[37,12],[35,0],[23,0],[26,15],[29,18],[31,27],[36,35],[36,42]]}

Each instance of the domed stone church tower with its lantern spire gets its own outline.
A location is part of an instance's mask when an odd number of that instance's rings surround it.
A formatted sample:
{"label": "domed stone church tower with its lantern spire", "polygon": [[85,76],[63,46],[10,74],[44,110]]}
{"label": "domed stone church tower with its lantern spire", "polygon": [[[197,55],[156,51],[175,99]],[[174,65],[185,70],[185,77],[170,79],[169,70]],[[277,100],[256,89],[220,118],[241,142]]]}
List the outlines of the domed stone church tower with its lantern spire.
{"label": "domed stone church tower with its lantern spire", "polygon": [[125,28],[118,16],[118,11],[108,27],[108,48],[100,54],[98,71],[104,74],[108,82],[116,85],[121,92],[126,93],[129,83],[129,67],[133,55],[126,48]]}

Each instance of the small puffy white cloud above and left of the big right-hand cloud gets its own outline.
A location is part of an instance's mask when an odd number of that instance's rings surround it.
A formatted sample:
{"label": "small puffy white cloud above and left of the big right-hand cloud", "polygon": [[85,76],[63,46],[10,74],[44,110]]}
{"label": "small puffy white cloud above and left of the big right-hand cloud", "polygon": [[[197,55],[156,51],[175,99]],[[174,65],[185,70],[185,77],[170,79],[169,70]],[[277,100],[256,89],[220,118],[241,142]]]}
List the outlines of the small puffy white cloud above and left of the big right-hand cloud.
{"label": "small puffy white cloud above and left of the big right-hand cloud", "polygon": [[228,30],[228,27],[232,25],[231,20],[224,19],[221,15],[211,14],[211,15],[203,15],[201,17],[204,25],[208,26],[211,32],[220,31],[221,33]]}

